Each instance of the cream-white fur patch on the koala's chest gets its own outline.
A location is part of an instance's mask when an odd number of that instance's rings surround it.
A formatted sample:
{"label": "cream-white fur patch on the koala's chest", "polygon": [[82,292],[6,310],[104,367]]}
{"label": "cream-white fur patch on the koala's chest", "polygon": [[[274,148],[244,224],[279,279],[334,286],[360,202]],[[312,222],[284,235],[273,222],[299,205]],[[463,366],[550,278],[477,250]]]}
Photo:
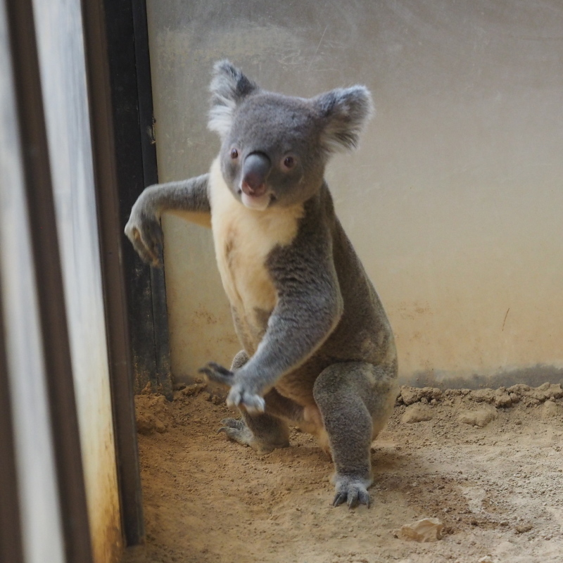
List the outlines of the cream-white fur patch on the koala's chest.
{"label": "cream-white fur patch on the koala's chest", "polygon": [[265,267],[267,255],[295,238],[303,207],[246,208],[225,184],[218,158],[211,165],[209,190],[215,255],[224,290],[240,320],[259,330],[263,327],[257,315],[271,312],[277,303]]}

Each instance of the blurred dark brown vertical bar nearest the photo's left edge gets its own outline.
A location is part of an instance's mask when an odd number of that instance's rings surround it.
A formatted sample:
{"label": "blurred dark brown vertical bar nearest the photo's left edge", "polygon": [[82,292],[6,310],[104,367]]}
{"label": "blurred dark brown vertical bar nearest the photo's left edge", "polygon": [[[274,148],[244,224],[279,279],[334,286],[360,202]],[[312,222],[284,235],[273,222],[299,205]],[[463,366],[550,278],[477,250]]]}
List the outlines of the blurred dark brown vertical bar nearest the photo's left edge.
{"label": "blurred dark brown vertical bar nearest the photo's left edge", "polygon": [[32,0],[7,0],[6,11],[65,557],[92,563]]}

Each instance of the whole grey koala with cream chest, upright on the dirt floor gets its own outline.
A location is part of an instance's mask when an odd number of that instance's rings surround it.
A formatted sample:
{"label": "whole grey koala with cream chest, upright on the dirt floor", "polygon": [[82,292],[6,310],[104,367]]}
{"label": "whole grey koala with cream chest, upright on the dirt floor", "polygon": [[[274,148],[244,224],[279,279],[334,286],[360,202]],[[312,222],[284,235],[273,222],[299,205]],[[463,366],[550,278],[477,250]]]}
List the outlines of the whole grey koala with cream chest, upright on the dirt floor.
{"label": "whole grey koala with cream chest, upright on the dirt floor", "polygon": [[207,174],[146,188],[125,234],[161,264],[164,211],[210,215],[217,267],[241,342],[228,386],[241,418],[220,432],[258,453],[289,445],[288,424],[334,462],[333,505],[369,507],[370,446],[393,409],[397,355],[374,286],[334,213],[324,170],[355,148],[372,114],[363,86],[311,99],[266,91],[215,64],[209,128],[220,152]]}

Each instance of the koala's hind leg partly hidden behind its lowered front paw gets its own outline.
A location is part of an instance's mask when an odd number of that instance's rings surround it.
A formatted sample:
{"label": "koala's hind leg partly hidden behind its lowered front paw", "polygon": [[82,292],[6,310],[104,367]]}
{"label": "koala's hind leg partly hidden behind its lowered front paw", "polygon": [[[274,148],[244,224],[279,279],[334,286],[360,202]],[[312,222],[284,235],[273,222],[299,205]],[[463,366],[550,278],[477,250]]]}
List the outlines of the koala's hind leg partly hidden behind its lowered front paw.
{"label": "koala's hind leg partly hidden behind its lowered front paw", "polygon": [[[241,350],[233,359],[231,371],[239,369],[248,362],[248,355]],[[270,395],[270,398],[268,397]],[[272,400],[273,393],[265,396],[266,408],[275,401]],[[240,444],[249,445],[258,454],[270,453],[275,448],[286,448],[289,446],[289,429],[287,424],[278,417],[268,412],[250,414],[245,409],[239,409],[241,419],[222,419],[223,425],[219,431]]]}

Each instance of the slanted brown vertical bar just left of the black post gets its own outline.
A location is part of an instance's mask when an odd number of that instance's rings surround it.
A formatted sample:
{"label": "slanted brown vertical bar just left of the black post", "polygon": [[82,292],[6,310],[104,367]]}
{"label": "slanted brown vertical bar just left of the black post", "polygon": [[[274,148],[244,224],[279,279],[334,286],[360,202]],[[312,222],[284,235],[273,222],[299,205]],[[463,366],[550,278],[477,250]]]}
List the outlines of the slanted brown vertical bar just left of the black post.
{"label": "slanted brown vertical bar just left of the black post", "polygon": [[103,0],[82,0],[82,13],[121,524],[125,545],[137,545],[144,521]]}

